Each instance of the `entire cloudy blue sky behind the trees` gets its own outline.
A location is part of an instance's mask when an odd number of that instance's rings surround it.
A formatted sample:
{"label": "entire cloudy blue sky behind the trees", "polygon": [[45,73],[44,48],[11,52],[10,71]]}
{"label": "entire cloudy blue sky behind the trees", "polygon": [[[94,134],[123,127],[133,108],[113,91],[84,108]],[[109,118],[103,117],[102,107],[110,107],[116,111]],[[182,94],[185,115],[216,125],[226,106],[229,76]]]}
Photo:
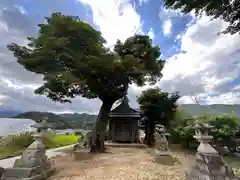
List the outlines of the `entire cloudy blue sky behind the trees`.
{"label": "entire cloudy blue sky behind the trees", "polygon": [[[42,77],[26,71],[6,48],[12,42],[26,45],[26,37],[36,36],[37,25],[53,12],[79,16],[102,32],[109,47],[135,33],[149,35],[166,61],[155,86],[180,92],[179,103],[195,103],[197,97],[200,104],[240,104],[240,35],[218,35],[228,25],[220,19],[167,10],[161,0],[1,0],[0,109],[98,112],[98,99],[60,104],[34,94]],[[130,86],[132,107],[146,88]]]}

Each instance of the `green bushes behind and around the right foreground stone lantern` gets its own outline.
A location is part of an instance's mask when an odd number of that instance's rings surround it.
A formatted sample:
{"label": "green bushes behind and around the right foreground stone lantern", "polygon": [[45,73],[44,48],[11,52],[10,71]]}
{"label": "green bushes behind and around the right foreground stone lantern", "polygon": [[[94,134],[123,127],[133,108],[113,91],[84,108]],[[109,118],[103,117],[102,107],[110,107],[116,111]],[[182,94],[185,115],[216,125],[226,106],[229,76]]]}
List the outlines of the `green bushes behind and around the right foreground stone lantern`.
{"label": "green bushes behind and around the right foreground stone lantern", "polygon": [[221,142],[227,144],[231,138],[240,132],[240,120],[233,113],[194,118],[186,114],[183,109],[178,109],[175,119],[170,125],[171,141],[174,143],[181,142],[187,148],[196,148],[196,140],[193,138],[193,124],[195,119],[207,121],[213,126],[210,134],[213,135],[214,142],[221,140]]}

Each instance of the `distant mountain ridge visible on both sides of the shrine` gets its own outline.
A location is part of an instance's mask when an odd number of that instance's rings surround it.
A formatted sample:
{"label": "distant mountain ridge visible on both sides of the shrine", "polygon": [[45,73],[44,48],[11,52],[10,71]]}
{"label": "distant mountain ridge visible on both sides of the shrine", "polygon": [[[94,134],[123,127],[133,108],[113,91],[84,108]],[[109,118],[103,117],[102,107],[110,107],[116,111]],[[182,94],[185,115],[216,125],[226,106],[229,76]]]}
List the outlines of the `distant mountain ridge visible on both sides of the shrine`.
{"label": "distant mountain ridge visible on both sides of the shrine", "polygon": [[[240,105],[224,105],[224,104],[213,104],[213,105],[199,105],[199,104],[182,104],[179,106],[185,112],[191,116],[200,115],[219,115],[221,113],[232,113],[234,112],[240,117]],[[14,116],[13,118],[27,118],[32,119],[36,122],[48,118],[48,122],[54,124],[55,129],[90,129],[94,124],[97,115],[87,113],[63,113],[54,114],[50,112],[25,112]]]}

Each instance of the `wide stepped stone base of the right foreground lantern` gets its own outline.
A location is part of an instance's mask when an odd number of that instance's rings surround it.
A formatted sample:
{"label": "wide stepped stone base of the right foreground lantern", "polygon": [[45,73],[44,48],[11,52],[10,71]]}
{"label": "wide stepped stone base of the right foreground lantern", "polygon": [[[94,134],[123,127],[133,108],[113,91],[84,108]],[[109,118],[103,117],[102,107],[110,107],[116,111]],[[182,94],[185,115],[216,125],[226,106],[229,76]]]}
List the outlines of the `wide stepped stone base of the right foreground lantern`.
{"label": "wide stepped stone base of the right foreground lantern", "polygon": [[186,172],[187,180],[240,180],[219,154],[196,154],[196,164]]}

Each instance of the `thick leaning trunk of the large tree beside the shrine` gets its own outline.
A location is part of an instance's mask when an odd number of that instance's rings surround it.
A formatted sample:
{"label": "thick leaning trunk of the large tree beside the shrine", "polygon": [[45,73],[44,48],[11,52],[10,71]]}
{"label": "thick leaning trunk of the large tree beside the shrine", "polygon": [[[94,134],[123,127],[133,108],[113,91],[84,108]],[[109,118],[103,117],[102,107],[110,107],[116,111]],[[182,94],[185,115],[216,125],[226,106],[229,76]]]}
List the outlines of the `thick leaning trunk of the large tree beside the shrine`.
{"label": "thick leaning trunk of the large tree beside the shrine", "polygon": [[103,102],[99,110],[99,114],[95,123],[95,126],[92,129],[91,137],[92,144],[90,145],[91,152],[103,152],[104,140],[106,135],[106,127],[108,124],[108,114],[112,108],[114,102]]}

